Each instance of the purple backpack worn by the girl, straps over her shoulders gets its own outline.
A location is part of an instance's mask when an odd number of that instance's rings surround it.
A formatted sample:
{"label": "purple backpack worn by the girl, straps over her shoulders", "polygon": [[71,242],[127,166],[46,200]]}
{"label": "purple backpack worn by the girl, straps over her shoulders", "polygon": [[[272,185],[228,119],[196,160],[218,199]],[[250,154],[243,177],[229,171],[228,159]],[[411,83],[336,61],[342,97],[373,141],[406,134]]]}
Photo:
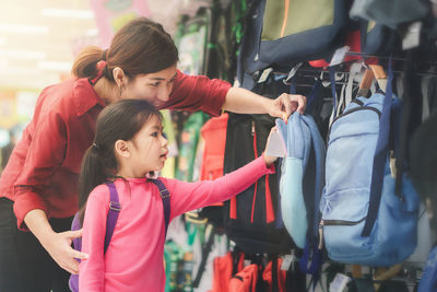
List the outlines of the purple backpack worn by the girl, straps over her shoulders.
{"label": "purple backpack worn by the girl, straps over her shoulders", "polygon": [[[153,184],[157,186],[160,189],[161,198],[163,200],[164,206],[164,220],[165,220],[165,234],[167,234],[167,227],[170,219],[170,194],[168,192],[167,188],[165,187],[164,183],[160,179],[150,179]],[[105,243],[104,243],[104,254],[108,249],[110,238],[113,237],[114,230],[116,227],[118,214],[121,210],[121,205],[118,199],[118,192],[115,184],[113,182],[106,184],[109,188],[109,210],[108,217],[106,219],[106,234],[105,234]],[[71,230],[80,230],[80,217],[79,212],[74,215],[73,222],[71,223]],[[82,249],[82,237],[73,240],[73,247],[76,250]],[[76,259],[80,261],[80,259]],[[69,285],[71,291],[76,292],[79,291],[79,275],[71,275],[69,280]]]}

